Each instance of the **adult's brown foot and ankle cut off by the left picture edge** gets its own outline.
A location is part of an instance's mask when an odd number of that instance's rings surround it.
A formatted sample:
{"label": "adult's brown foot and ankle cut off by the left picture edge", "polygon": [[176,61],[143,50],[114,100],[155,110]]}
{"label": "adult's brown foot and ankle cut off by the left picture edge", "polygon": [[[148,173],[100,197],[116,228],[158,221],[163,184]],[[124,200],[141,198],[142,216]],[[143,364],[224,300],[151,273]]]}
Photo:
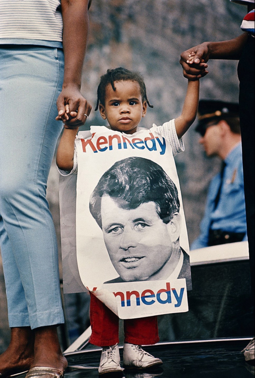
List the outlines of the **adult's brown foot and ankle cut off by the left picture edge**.
{"label": "adult's brown foot and ankle cut off by the left picture edge", "polygon": [[34,361],[34,332],[30,327],[11,328],[11,342],[0,355],[0,377],[29,370]]}

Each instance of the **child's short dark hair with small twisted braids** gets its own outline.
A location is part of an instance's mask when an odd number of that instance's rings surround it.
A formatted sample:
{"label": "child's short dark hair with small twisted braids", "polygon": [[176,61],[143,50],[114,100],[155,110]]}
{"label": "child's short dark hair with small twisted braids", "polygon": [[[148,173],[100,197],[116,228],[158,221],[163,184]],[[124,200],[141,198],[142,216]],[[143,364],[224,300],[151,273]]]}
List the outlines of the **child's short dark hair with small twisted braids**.
{"label": "child's short dark hair with small twisted braids", "polygon": [[100,84],[97,88],[97,106],[95,111],[98,110],[99,104],[105,105],[105,93],[106,87],[108,84],[111,84],[112,89],[115,91],[114,87],[115,81],[136,81],[141,88],[142,101],[146,101],[150,108],[153,108],[153,105],[149,103],[146,94],[146,87],[144,84],[143,77],[138,72],[132,72],[123,67],[115,68],[114,70],[107,70],[107,73],[101,76]]}

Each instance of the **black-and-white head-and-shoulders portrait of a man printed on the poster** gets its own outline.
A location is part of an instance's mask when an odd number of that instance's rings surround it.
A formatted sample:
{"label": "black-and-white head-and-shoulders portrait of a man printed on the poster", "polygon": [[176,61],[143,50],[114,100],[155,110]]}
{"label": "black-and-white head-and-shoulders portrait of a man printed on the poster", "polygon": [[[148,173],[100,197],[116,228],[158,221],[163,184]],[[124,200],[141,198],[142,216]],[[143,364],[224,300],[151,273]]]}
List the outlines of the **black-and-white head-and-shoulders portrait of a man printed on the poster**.
{"label": "black-and-white head-and-shoulders portrait of a man printed on the poster", "polygon": [[89,209],[119,275],[106,283],[190,281],[177,188],[157,163],[141,157],[117,161],[100,178]]}

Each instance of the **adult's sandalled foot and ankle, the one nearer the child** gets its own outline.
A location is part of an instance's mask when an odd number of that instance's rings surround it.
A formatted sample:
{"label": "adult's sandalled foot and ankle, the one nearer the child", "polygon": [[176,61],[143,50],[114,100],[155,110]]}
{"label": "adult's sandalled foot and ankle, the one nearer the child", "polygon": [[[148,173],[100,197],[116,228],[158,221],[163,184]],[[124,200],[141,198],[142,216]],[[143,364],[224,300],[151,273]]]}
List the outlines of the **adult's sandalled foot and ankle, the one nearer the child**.
{"label": "adult's sandalled foot and ankle, the one nearer the child", "polygon": [[57,327],[36,328],[34,332],[34,362],[31,367],[52,367],[64,372],[68,363],[60,349]]}

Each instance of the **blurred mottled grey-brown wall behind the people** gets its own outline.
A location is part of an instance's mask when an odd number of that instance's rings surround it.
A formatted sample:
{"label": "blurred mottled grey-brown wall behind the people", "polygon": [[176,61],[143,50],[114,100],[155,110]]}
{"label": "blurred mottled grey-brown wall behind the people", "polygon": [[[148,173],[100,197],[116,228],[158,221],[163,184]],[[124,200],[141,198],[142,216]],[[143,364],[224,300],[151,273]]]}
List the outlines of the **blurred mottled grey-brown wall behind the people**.
{"label": "blurred mottled grey-brown wall behind the people", "polygon": [[[149,101],[154,105],[142,125],[151,127],[154,122],[161,125],[180,115],[183,106],[187,80],[179,64],[180,53],[206,40],[238,36],[245,14],[246,7],[229,0],[93,0],[82,93],[95,107],[99,79],[108,68],[122,66],[140,71]],[[200,93],[201,99],[238,102],[237,61],[210,61]],[[103,124],[99,112],[92,110],[83,129]],[[186,151],[176,158],[190,243],[199,234],[208,184],[220,164],[216,158],[204,155],[194,132],[195,125],[196,122],[184,136]],[[54,162],[48,181],[48,200],[59,242],[58,173]],[[8,339],[0,260],[0,353],[8,345]]]}

